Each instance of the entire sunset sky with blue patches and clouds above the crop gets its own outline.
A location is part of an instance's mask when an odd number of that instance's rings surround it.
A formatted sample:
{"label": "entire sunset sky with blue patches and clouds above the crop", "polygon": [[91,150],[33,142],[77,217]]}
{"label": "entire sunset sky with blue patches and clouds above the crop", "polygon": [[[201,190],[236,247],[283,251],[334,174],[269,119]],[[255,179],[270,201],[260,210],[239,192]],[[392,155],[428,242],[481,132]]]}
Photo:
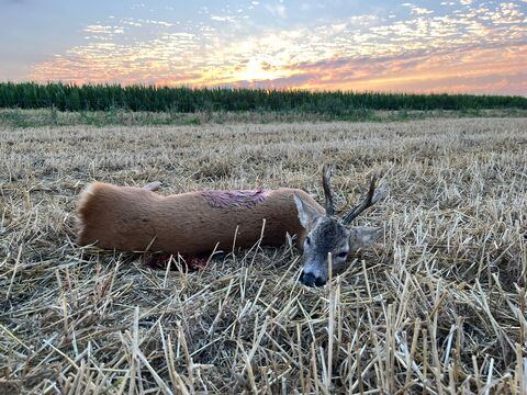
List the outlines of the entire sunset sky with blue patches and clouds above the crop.
{"label": "entire sunset sky with blue patches and clouds above the crop", "polygon": [[527,95],[527,0],[0,0],[0,81]]}

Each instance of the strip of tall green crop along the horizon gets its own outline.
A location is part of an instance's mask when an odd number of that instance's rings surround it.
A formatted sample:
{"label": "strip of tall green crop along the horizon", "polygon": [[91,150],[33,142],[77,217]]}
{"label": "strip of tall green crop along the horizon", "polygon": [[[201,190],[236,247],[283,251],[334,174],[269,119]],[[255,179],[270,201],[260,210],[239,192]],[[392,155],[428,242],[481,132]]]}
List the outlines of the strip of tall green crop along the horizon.
{"label": "strip of tall green crop along the horizon", "polygon": [[527,98],[473,94],[310,92],[143,86],[0,83],[0,109],[58,111],[273,111],[346,117],[358,110],[527,110]]}

